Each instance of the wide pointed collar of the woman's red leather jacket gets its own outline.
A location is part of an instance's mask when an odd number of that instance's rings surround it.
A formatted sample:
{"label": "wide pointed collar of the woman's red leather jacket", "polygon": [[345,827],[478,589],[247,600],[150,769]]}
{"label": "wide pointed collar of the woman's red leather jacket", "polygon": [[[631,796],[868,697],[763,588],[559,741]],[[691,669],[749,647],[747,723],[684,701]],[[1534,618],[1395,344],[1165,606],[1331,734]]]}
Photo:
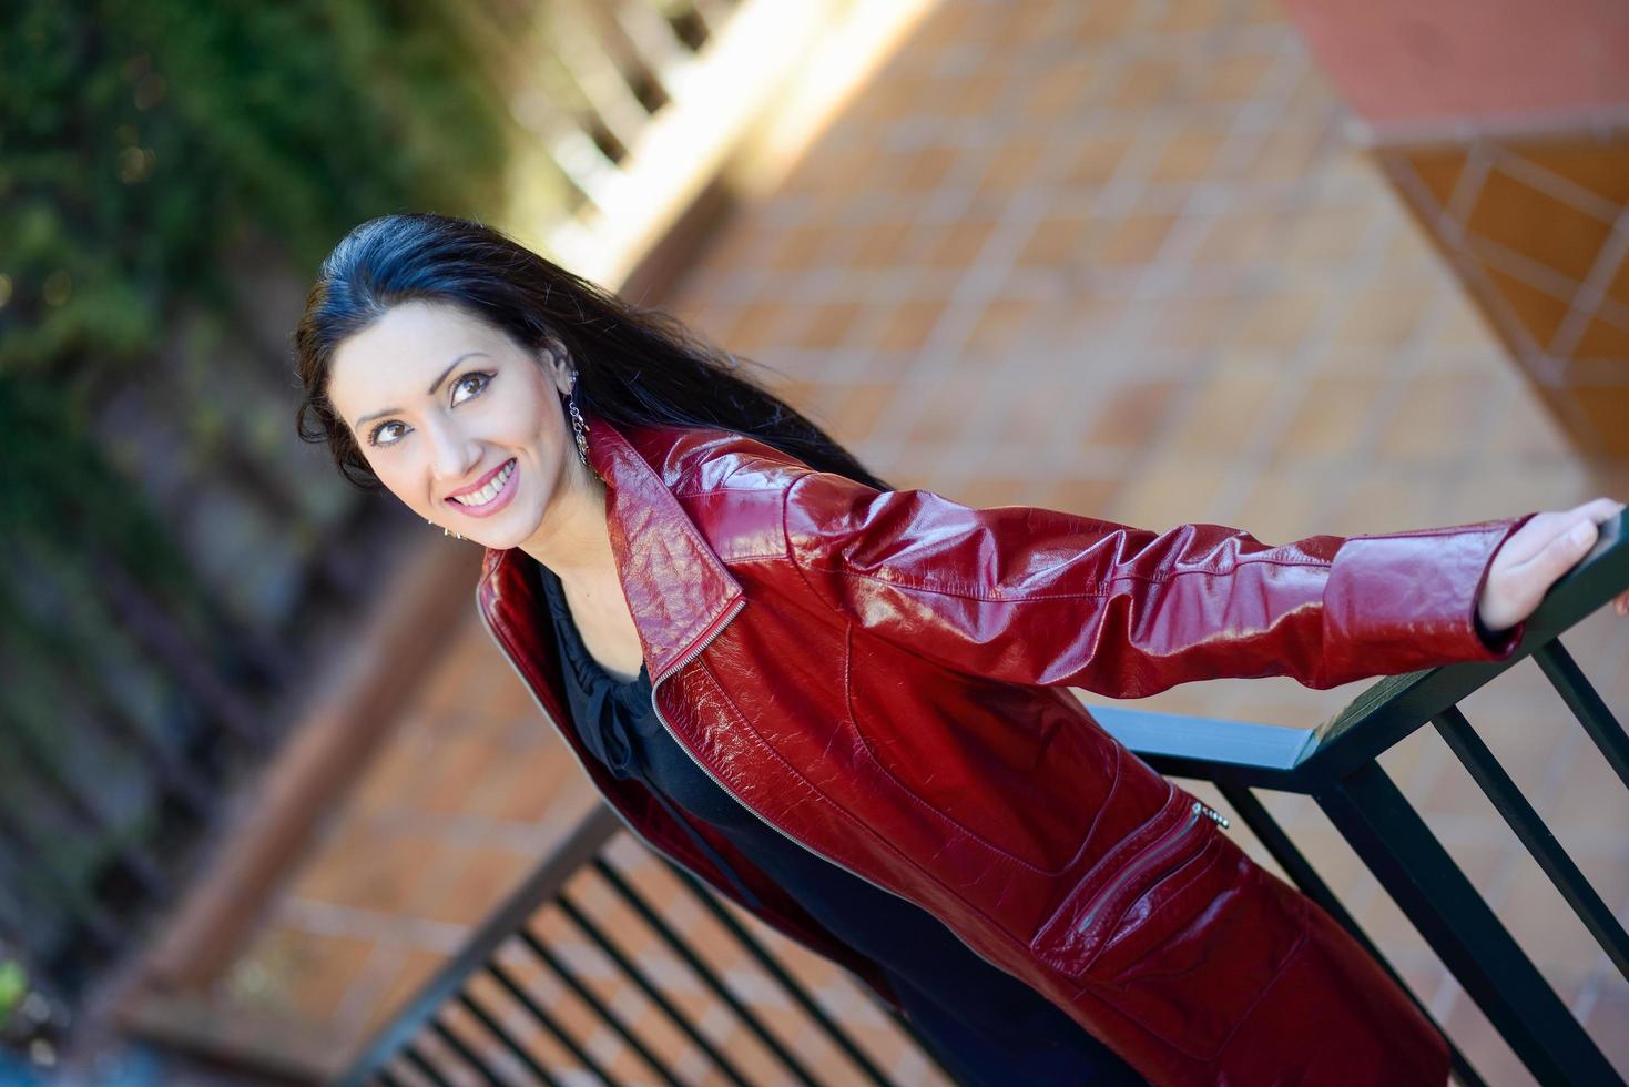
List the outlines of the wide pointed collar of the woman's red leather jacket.
{"label": "wide pointed collar of the woman's red leather jacket", "polygon": [[[586,422],[588,463],[606,481],[606,521],[617,577],[650,680],[656,683],[683,665],[744,596],[673,495],[665,473],[653,466],[678,477],[684,455],[717,435],[687,427],[624,432],[604,419]],[[520,548],[489,548],[477,587],[482,611],[521,632],[536,629],[541,619],[526,582],[529,561]]]}

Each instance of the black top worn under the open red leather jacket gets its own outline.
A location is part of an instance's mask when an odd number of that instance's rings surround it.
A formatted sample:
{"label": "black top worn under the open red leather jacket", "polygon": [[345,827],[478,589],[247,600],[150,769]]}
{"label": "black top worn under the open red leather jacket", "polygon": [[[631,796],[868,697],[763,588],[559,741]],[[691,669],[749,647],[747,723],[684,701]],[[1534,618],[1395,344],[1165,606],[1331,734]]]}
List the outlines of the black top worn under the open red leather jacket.
{"label": "black top worn under the open red leather jacket", "polygon": [[[832,935],[875,960],[914,1023],[968,1082],[1010,1084],[1020,1071],[1028,1084],[1144,1082],[1051,1001],[984,962],[933,914],[816,856],[725,792],[661,725],[648,670],[642,665],[627,683],[606,673],[577,632],[560,579],[541,564],[538,572],[583,745],[614,776],[643,782],[670,812],[678,805],[722,830]],[[744,891],[717,851],[694,839]]]}

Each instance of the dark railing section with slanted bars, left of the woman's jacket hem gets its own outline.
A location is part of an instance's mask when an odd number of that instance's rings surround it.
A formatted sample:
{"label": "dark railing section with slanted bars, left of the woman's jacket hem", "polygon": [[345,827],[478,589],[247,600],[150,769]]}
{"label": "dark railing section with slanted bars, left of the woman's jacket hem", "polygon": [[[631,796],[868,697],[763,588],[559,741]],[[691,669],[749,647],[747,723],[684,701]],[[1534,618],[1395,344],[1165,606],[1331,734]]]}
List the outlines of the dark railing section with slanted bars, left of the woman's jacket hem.
{"label": "dark railing section with slanted bars, left of the woman's jacket hem", "polygon": [[[459,1074],[446,1064],[446,1058],[454,1058],[461,1072],[474,1072],[477,1082],[487,1084],[555,1084],[585,1072],[599,1082],[617,1084],[622,1077],[593,1051],[595,1035],[603,1030],[609,1030],[637,1058],[650,1082],[674,1087],[684,1082],[674,1071],[673,1040],[681,1051],[699,1051],[727,1082],[740,1087],[762,1082],[743,1063],[736,1051],[740,1046],[720,1040],[733,1028],[743,1028],[743,1038],[749,1036],[762,1046],[761,1056],[769,1056],[779,1076],[792,1082],[893,1082],[881,1069],[878,1054],[842,1022],[850,1017],[834,1015],[824,1007],[797,965],[772,952],[730,906],[665,860],[661,867],[670,874],[668,888],[678,893],[663,895],[661,904],[655,904],[655,895],[648,888],[640,890],[627,865],[614,859],[616,844],[632,844],[632,839],[611,808],[598,805],[370,1041],[339,1082],[394,1087],[428,1080],[441,1087]],[[609,891],[627,916],[621,922],[596,921],[601,911],[585,901],[596,891]],[[681,901],[697,906],[717,926],[715,937],[722,932],[725,939],[712,939],[702,950],[679,932],[671,918]],[[570,935],[549,940],[542,931],[551,924]],[[630,950],[640,944],[665,948],[663,958],[676,958],[684,970],[656,970],[652,955]],[[736,958],[728,968],[722,966],[720,944]],[[577,953],[585,947],[591,953]],[[546,1007],[538,988],[518,976],[523,963],[551,976],[562,997],[559,1004],[572,1007]],[[782,1010],[790,1009],[792,1015],[777,1015],[777,1022],[771,1023],[753,999],[741,996],[744,991],[764,992],[766,986],[779,991]],[[686,1007],[694,1004],[689,997],[697,988],[710,1001],[700,1012]],[[852,988],[872,997],[863,984]],[[656,1015],[627,1010],[629,1001],[619,989],[637,991]],[[448,1015],[454,1007],[463,1019],[461,1028]],[[883,1012],[899,1033],[893,1038],[896,1051],[915,1046],[922,1061],[935,1063],[925,1041],[902,1017],[875,997],[870,1007]],[[727,1010],[725,1023],[715,1019],[718,1010]],[[570,1019],[567,1012],[573,1012]],[[837,1056],[837,1064],[823,1061],[821,1071],[841,1076],[839,1080],[818,1076],[810,1059],[795,1051],[793,1040],[808,1028],[818,1032],[829,1043],[823,1048]],[[670,1041],[666,1056],[658,1053],[663,1046],[653,1036],[656,1032]],[[898,1056],[891,1063],[898,1063]],[[757,1066],[762,1064],[759,1061]]]}

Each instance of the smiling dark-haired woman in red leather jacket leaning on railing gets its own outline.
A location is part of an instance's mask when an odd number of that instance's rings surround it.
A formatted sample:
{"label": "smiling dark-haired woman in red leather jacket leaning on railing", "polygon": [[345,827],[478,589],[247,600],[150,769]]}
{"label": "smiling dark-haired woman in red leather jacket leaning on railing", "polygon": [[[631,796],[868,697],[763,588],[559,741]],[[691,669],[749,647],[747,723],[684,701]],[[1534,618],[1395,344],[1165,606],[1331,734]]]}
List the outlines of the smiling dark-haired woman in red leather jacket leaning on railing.
{"label": "smiling dark-haired woman in red leather jacket leaning on railing", "polygon": [[433,215],[340,241],[295,342],[301,433],[487,548],[490,634],[629,826],[968,1082],[1445,1082],[1064,688],[1499,660],[1621,504],[1269,548],[891,491],[671,318]]}

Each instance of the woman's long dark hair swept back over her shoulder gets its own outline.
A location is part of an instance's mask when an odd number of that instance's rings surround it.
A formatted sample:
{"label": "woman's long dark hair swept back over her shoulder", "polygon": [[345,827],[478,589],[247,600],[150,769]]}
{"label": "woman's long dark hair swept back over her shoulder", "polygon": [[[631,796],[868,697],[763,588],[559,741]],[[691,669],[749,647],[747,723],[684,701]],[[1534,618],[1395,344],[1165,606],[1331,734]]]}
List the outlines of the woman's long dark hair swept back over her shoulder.
{"label": "woman's long dark hair swept back over her shoulder", "polygon": [[819,471],[889,489],[749,378],[743,360],[678,318],[627,303],[490,227],[428,213],[371,218],[345,235],[323,261],[295,329],[295,368],[305,388],[295,420],[300,437],[327,443],[340,474],[358,487],[380,481],[327,399],[329,367],[347,337],[409,300],[463,306],[526,349],[557,341],[577,363],[578,407],[617,429],[722,427]]}

